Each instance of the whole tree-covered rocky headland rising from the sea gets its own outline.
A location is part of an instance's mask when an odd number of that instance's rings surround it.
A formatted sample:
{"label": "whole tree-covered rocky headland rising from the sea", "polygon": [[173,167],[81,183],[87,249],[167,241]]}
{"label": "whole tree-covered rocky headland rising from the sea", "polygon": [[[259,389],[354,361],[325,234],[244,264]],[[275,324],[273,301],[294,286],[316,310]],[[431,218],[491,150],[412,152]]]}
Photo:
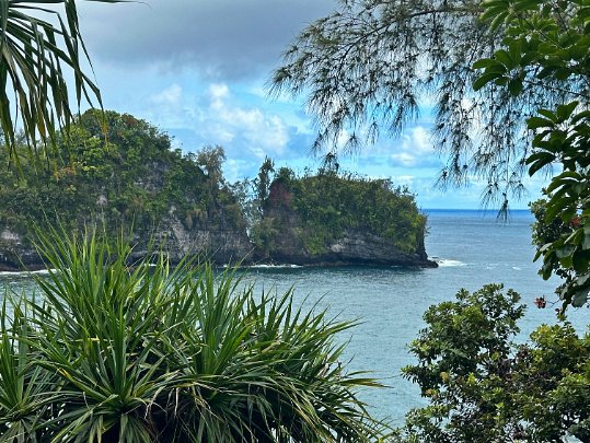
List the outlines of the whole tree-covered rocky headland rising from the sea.
{"label": "whole tree-covered rocky headland rising from the sea", "polygon": [[20,167],[0,176],[0,270],[44,267],[31,241],[44,225],[99,225],[114,236],[132,225],[123,234],[135,258],[161,247],[172,263],[199,255],[218,265],[437,266],[412,193],[339,173],[331,155],[303,176],[275,172],[266,159],[256,178],[229,184],[222,148],[183,154],[147,121],[96,110],[47,154],[23,152]]}

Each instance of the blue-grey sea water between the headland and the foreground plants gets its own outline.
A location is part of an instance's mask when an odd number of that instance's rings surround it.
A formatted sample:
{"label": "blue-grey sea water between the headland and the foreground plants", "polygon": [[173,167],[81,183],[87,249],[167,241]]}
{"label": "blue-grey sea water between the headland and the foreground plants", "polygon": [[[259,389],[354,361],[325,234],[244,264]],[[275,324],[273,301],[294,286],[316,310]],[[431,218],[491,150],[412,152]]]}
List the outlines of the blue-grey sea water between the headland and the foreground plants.
{"label": "blue-grey sea water between the headland and the foreground plants", "polygon": [[[402,267],[254,267],[245,281],[257,291],[284,293],[293,288],[296,303],[305,310],[327,310],[338,319],[357,320],[343,333],[346,342],[343,364],[350,371],[367,371],[384,388],[368,388],[359,397],[369,411],[394,425],[405,415],[426,405],[416,385],[401,375],[401,369],[416,361],[407,346],[425,327],[423,314],[432,304],[453,300],[459,289],[475,291],[486,283],[502,283],[518,291],[527,305],[520,341],[527,341],[539,325],[555,324],[559,306],[554,293],[557,280],[544,281],[539,263],[533,263],[531,244],[533,217],[514,210],[508,222],[497,221],[493,211],[424,210],[428,217],[426,250],[438,261],[436,269]],[[0,273],[0,288],[19,291],[27,287],[25,276]],[[540,310],[534,300],[548,303]],[[570,308],[568,319],[585,333],[590,308]]]}

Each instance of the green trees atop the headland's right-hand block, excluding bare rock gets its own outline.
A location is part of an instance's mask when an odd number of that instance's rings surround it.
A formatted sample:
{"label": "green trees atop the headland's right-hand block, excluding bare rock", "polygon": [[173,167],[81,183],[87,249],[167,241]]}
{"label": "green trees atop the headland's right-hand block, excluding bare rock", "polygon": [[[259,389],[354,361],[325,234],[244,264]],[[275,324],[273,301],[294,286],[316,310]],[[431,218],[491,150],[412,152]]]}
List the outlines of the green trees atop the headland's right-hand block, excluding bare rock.
{"label": "green trees atop the headland's right-hand block, excluding bare rock", "polygon": [[[325,165],[316,175],[301,177],[280,168],[262,207],[254,238],[269,250],[273,235],[281,235],[281,224],[292,223],[293,218],[299,221],[298,236],[312,255],[324,253],[350,231],[381,237],[408,254],[424,241],[426,218],[407,188],[395,187],[389,179],[338,174]],[[281,217],[285,213],[289,220]]]}

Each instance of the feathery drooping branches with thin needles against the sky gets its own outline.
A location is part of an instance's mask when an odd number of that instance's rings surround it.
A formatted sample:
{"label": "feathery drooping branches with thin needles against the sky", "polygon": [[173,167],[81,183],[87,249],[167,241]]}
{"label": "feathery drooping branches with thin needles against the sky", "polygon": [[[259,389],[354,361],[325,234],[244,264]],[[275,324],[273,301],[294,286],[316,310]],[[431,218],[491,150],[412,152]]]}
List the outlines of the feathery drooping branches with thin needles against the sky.
{"label": "feathery drooping branches with thin needles against the sky", "polygon": [[440,184],[463,185],[476,177],[487,184],[484,202],[505,205],[524,191],[532,138],[525,118],[586,88],[568,78],[567,88],[564,82],[546,88],[546,79],[518,96],[494,82],[474,91],[479,74],[473,63],[490,57],[506,33],[481,14],[487,4],[510,12],[524,3],[340,0],[333,14],[309,25],[287,49],[271,91],[306,95],[319,126],[314,148],[327,152],[345,133],[345,151],[382,132],[400,135],[418,116],[420,103],[433,102],[433,141],[446,163]]}

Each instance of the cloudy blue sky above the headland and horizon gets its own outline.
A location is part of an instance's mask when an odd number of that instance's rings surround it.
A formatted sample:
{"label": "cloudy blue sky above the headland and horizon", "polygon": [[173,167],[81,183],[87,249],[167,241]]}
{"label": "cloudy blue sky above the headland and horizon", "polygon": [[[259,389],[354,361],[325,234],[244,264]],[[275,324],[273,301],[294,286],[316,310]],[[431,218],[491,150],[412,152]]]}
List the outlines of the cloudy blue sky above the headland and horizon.
{"label": "cloudy blue sky above the headland and horizon", "polygon": [[[282,51],[306,24],[334,10],[335,0],[144,0],[78,8],[106,109],[146,119],[184,152],[222,145],[230,182],[255,177],[265,156],[298,172],[320,165],[310,152],[315,131],[304,97],[270,98],[267,85]],[[479,208],[477,184],[447,191],[435,186],[442,162],[430,126],[423,115],[400,138],[382,137],[339,159],[340,167],[407,186],[424,209]],[[529,199],[536,197],[533,191]],[[529,199],[512,207],[525,208]]]}

